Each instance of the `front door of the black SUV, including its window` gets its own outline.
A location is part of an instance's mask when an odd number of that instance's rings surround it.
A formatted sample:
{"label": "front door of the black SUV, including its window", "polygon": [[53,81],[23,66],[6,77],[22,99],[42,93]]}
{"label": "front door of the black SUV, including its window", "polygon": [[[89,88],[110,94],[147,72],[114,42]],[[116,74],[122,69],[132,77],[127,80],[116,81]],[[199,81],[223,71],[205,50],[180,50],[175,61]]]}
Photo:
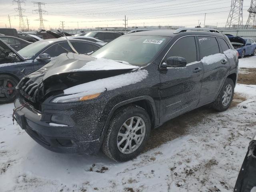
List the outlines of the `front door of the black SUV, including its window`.
{"label": "front door of the black SUV, including its window", "polygon": [[198,61],[199,54],[195,36],[185,36],[177,40],[164,57],[180,56],[187,60],[184,68],[160,69],[160,122],[165,122],[179,114],[195,108],[199,102],[202,86],[203,66]]}

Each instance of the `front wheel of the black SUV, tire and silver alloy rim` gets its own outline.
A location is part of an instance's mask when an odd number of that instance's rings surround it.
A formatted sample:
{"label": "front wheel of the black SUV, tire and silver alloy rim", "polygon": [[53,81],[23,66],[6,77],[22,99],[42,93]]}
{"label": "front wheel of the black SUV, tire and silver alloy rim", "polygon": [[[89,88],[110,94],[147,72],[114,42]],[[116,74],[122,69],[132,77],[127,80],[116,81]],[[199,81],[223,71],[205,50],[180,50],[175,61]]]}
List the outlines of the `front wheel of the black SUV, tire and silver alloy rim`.
{"label": "front wheel of the black SUV, tire and silver alloy rim", "polygon": [[136,105],[120,108],[112,117],[102,150],[115,161],[132,160],[143,150],[150,130],[146,110]]}

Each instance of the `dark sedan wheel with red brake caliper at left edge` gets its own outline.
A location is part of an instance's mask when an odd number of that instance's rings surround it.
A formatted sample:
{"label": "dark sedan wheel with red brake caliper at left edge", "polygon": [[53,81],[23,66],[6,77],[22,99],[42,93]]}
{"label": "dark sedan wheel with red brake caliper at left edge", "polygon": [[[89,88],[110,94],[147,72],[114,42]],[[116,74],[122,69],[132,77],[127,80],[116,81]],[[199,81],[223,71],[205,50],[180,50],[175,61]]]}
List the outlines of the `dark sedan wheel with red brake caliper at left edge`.
{"label": "dark sedan wheel with red brake caliper at left edge", "polygon": [[13,102],[17,92],[15,87],[18,84],[16,78],[9,75],[0,75],[0,104]]}

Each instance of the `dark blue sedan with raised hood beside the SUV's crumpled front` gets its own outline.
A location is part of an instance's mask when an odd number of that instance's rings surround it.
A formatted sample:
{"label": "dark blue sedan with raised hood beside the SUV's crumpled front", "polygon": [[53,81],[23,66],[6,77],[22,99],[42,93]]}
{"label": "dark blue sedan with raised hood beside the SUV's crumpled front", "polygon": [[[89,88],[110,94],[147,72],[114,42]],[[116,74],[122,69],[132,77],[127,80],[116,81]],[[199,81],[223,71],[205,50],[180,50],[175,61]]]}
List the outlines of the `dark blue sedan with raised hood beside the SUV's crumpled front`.
{"label": "dark blue sedan with raised hood beside the SUV's crumpled front", "polygon": [[[74,39],[71,44],[79,54],[98,50],[102,45]],[[16,52],[0,40],[0,104],[14,101],[15,86],[21,78],[41,68],[62,53],[73,52],[65,39],[47,39],[34,42]]]}

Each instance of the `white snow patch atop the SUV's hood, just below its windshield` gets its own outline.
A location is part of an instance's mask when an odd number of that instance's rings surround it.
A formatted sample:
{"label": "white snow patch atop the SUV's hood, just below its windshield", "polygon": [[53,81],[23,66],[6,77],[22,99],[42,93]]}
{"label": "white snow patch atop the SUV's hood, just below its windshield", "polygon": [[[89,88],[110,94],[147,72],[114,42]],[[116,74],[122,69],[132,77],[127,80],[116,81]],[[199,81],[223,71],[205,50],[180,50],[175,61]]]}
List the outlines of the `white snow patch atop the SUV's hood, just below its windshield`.
{"label": "white snow patch atop the SUV's hood, just below its windshield", "polygon": [[98,70],[115,70],[115,69],[136,69],[138,66],[120,63],[114,60],[105,58],[95,58],[94,60],[87,62],[79,69],[70,70],[70,72],[77,71],[98,71]]}

